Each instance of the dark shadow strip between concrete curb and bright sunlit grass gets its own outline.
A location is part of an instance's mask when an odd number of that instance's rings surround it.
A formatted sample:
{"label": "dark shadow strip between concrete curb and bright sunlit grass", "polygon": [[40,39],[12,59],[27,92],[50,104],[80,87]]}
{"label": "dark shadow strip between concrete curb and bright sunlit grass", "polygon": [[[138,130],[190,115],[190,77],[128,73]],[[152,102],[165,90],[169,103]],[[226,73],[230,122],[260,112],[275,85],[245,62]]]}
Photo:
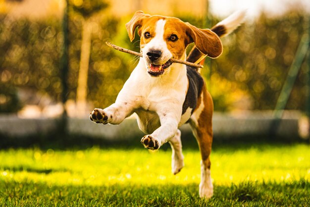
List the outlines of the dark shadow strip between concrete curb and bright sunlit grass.
{"label": "dark shadow strip between concrete curb and bright sunlit grass", "polygon": [[[199,150],[198,144],[192,133],[183,133],[181,136],[184,150]],[[85,150],[92,147],[99,147],[101,149],[144,149],[140,143],[141,137],[128,137],[126,140],[105,140],[82,135],[63,135],[52,133],[50,135],[36,135],[23,138],[13,138],[0,135],[0,149],[8,148],[40,148],[42,150]],[[249,148],[256,146],[264,148],[266,145],[281,146],[291,145],[294,143],[309,143],[303,140],[287,140],[281,137],[236,137],[225,139],[221,137],[214,137],[212,149],[236,150],[241,148]],[[166,151],[170,149],[169,144],[163,145],[161,150]]]}

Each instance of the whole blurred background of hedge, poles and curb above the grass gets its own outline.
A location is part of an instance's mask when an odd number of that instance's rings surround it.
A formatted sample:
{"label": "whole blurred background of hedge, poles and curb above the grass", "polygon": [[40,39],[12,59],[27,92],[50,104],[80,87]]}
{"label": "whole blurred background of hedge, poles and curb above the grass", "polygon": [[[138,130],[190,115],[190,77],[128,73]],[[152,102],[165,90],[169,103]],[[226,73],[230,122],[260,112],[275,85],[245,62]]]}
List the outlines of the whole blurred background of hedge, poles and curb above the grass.
{"label": "whole blurred background of hedge, poles and curb above the grass", "polygon": [[215,137],[309,140],[309,0],[0,0],[2,145],[4,137],[55,133],[140,136],[134,120],[88,120],[94,107],[115,101],[137,64],[105,41],[139,51],[139,37],[131,43],[125,28],[137,10],[210,28],[239,9],[246,22],[203,69]]}

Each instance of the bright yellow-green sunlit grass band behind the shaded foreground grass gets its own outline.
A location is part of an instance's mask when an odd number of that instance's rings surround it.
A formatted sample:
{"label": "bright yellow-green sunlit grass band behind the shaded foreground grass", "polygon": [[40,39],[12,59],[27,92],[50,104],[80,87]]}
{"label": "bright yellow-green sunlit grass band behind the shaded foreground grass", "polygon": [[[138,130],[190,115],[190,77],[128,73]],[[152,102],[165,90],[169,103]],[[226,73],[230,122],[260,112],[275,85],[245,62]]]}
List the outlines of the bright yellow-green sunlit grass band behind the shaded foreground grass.
{"label": "bright yellow-green sunlit grass band behind the shaded foreground grass", "polygon": [[[60,185],[115,183],[188,184],[200,182],[200,153],[186,150],[185,167],[171,173],[171,151],[145,149],[85,151],[0,151],[0,179]],[[211,155],[213,181],[230,185],[242,181],[291,181],[310,179],[310,147],[260,146],[249,149],[218,149]]]}

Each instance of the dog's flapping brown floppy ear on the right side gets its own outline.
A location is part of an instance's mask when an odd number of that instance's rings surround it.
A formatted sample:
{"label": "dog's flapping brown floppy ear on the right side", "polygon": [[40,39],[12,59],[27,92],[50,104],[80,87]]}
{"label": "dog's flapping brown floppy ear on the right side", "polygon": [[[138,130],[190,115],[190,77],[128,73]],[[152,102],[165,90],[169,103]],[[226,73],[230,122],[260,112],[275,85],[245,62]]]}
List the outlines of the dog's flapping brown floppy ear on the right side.
{"label": "dog's flapping brown floppy ear on the right side", "polygon": [[186,24],[186,32],[190,37],[189,43],[194,42],[200,52],[211,58],[216,58],[222,53],[222,42],[214,32],[209,29],[199,29],[189,23]]}

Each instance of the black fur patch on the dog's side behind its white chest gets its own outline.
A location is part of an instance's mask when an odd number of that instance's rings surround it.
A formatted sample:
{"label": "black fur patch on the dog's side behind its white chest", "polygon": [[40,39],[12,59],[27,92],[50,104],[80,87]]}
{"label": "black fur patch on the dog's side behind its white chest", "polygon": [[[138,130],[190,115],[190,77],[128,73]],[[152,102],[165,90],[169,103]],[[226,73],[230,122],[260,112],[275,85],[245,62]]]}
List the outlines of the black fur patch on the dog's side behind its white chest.
{"label": "black fur patch on the dog's side behind its white chest", "polygon": [[191,114],[193,114],[197,106],[198,97],[200,96],[204,86],[204,79],[195,70],[195,68],[190,66],[187,66],[187,78],[189,81],[189,86],[182,106],[182,114],[186,112],[188,107],[192,108]]}

